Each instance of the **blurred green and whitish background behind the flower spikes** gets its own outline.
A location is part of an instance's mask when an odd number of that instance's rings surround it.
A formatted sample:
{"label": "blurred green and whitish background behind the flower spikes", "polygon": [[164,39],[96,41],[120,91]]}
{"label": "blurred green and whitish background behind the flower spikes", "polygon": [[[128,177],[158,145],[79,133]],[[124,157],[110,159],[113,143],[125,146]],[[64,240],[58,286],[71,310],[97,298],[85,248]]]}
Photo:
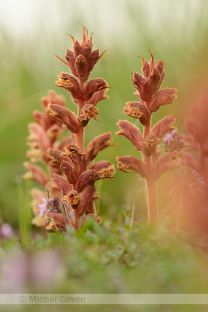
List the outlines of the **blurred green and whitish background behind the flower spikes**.
{"label": "blurred green and whitish background behind the flower spikes", "polygon": [[[126,101],[137,101],[131,71],[141,72],[141,55],[165,62],[166,76],[162,87],[178,89],[177,100],[162,107],[153,116],[153,123],[167,114],[177,119],[179,132],[191,105],[207,87],[208,70],[208,1],[206,0],[37,0],[7,1],[1,6],[0,50],[0,209],[5,222],[17,226],[17,182],[27,160],[27,124],[33,110],[41,110],[40,98],[49,89],[64,94],[67,107],[76,106],[54,81],[60,71],[68,71],[55,56],[64,58],[72,42],[68,33],[81,40],[83,26],[94,33],[94,49],[99,47],[103,58],[96,64],[90,78],[101,77],[114,87],[110,98],[98,104],[99,121],[87,128],[86,144],[96,135],[112,132],[116,146],[103,150],[97,159],[116,165],[116,155],[139,156],[137,150],[122,136],[116,136],[119,119],[132,120],[123,114]],[[139,126],[139,124],[137,124]],[[168,175],[159,182],[159,189]],[[116,172],[115,180],[103,180],[97,187],[102,200],[97,208],[101,216],[116,217],[116,210],[130,209],[135,199],[135,220],[146,218],[144,182],[135,198],[136,175]],[[159,193],[160,209],[164,194]]]}

